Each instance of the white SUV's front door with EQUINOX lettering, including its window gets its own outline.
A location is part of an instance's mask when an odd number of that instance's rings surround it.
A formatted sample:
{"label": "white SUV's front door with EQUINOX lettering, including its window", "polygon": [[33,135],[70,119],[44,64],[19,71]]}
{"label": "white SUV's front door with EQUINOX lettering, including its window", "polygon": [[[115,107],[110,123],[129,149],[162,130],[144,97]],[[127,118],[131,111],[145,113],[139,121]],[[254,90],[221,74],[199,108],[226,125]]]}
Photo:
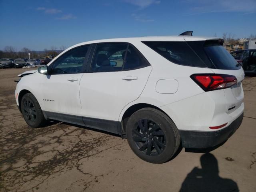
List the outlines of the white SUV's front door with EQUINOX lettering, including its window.
{"label": "white SUV's front door with EQUINOX lettering, including its window", "polygon": [[85,45],[69,50],[48,67],[50,75],[44,76],[40,84],[42,110],[47,118],[83,124],[79,83],[87,63],[89,47]]}

